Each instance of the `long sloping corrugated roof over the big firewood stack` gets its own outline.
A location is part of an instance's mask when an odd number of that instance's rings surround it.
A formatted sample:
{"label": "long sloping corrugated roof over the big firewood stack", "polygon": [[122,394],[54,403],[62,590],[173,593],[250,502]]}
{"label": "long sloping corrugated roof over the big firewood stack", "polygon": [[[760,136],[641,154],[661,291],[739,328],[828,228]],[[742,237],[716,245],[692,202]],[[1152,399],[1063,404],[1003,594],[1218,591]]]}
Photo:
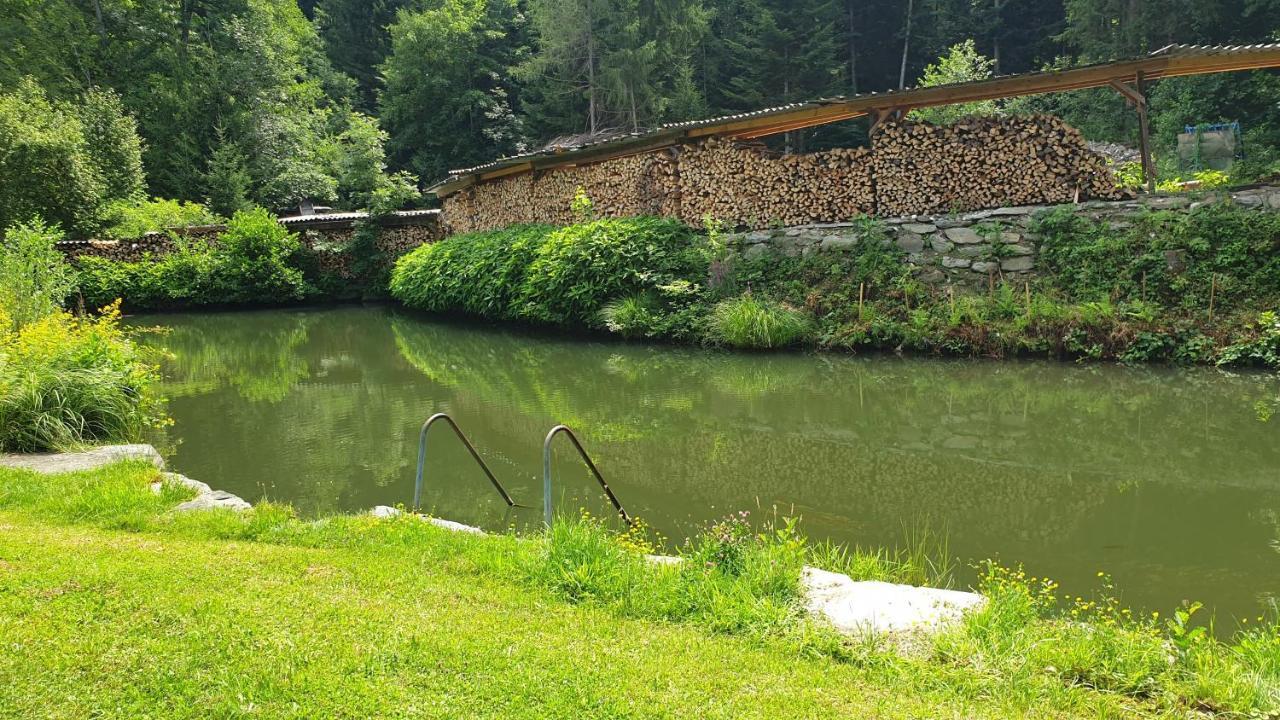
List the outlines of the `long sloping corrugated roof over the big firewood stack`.
{"label": "long sloping corrugated roof over the big firewood stack", "polygon": [[[938,90],[943,90],[945,91],[945,90],[948,90],[948,88],[952,88],[952,90],[954,88],[963,88],[965,86],[978,87],[978,86],[983,86],[986,83],[992,83],[992,82],[996,82],[996,81],[1010,81],[1010,79],[1027,79],[1027,81],[1033,81],[1034,82],[1037,79],[1056,78],[1057,76],[1061,76],[1065,72],[1098,69],[1098,68],[1106,68],[1108,65],[1123,67],[1123,65],[1132,65],[1134,63],[1139,63],[1140,64],[1143,60],[1158,60],[1158,59],[1165,59],[1165,58],[1183,58],[1183,56],[1204,56],[1204,58],[1212,58],[1212,56],[1221,56],[1221,55],[1248,55],[1249,53],[1276,51],[1276,50],[1280,50],[1280,44],[1258,44],[1258,45],[1167,45],[1167,46],[1161,47],[1160,50],[1156,50],[1156,51],[1153,51],[1153,53],[1151,53],[1148,55],[1144,55],[1142,58],[1135,58],[1135,59],[1129,59],[1129,60],[1112,60],[1112,61],[1107,61],[1107,63],[1093,63],[1093,64],[1089,64],[1089,65],[1080,65],[1080,67],[1069,68],[1069,69],[1065,69],[1065,70],[1036,70],[1036,72],[1030,72],[1030,73],[1005,74],[1005,76],[997,76],[997,77],[983,79],[983,81],[952,83],[952,85],[947,85],[947,86],[936,86],[936,87],[931,87],[931,88],[909,87],[909,88],[902,88],[902,90],[888,90],[888,91],[883,91],[883,92],[865,92],[865,94],[852,95],[852,96],[822,97],[822,99],[817,99],[817,100],[812,100],[812,101],[805,101],[805,102],[791,102],[791,104],[787,104],[787,105],[778,105],[778,106],[774,106],[774,108],[764,108],[764,109],[760,109],[760,110],[751,110],[751,111],[748,111],[748,113],[736,113],[736,114],[731,114],[731,115],[719,115],[719,117],[705,118],[705,119],[700,119],[700,120],[686,120],[686,122],[678,122],[678,123],[667,123],[667,124],[664,124],[664,126],[662,126],[659,128],[654,128],[654,129],[650,129],[650,131],[632,132],[632,133],[625,133],[625,135],[609,135],[609,136],[602,137],[599,140],[590,140],[590,141],[586,141],[586,142],[581,142],[581,143],[576,143],[576,145],[570,145],[570,146],[561,145],[561,146],[556,146],[556,147],[547,147],[547,149],[536,150],[536,151],[532,151],[532,152],[524,152],[524,154],[518,154],[518,155],[511,155],[511,156],[507,156],[507,158],[499,158],[499,159],[493,160],[490,163],[484,163],[481,165],[475,165],[475,167],[471,167],[471,168],[461,168],[461,169],[456,169],[456,170],[449,170],[448,177],[445,179],[435,183],[431,188],[429,188],[429,191],[438,191],[438,190],[443,188],[444,186],[453,186],[454,183],[465,181],[466,178],[472,177],[472,176],[479,176],[479,174],[483,174],[483,173],[488,173],[488,172],[493,172],[493,170],[500,170],[500,169],[507,169],[507,168],[516,168],[516,167],[524,164],[524,163],[532,163],[535,160],[562,159],[566,164],[568,164],[568,163],[572,163],[577,156],[580,156],[582,154],[593,154],[591,151],[594,151],[596,149],[608,147],[608,146],[618,146],[620,149],[622,149],[622,147],[625,147],[627,145],[632,145],[632,143],[639,145],[640,142],[643,142],[645,140],[658,141],[663,136],[669,137],[671,138],[671,145],[675,145],[677,142],[687,140],[687,137],[685,136],[685,133],[687,133],[689,131],[696,131],[696,129],[703,129],[703,128],[713,128],[716,126],[723,126],[723,124],[730,124],[730,123],[740,123],[740,122],[744,122],[744,120],[760,119],[760,118],[767,118],[769,115],[785,115],[785,114],[788,114],[788,113],[796,113],[796,111],[803,111],[803,110],[808,110],[808,109],[819,109],[819,108],[823,108],[823,106],[850,104],[850,102],[854,102],[854,101],[856,101],[859,104],[865,104],[868,101],[877,101],[878,102],[879,100],[883,99],[886,101],[886,108],[891,108],[893,102],[909,104],[910,100],[911,100],[911,95],[913,94],[914,95],[919,95],[923,91],[938,91]],[[1221,72],[1221,70],[1215,70],[1215,72]],[[1069,87],[1066,90],[1074,90],[1074,87]],[[1042,92],[1051,92],[1051,91],[1053,91],[1053,90],[1052,90],[1052,87],[1048,87],[1048,86],[1044,90],[1042,90]],[[957,102],[964,102],[964,101],[966,101],[966,100],[957,100]],[[835,122],[835,120],[827,120],[827,122]]]}

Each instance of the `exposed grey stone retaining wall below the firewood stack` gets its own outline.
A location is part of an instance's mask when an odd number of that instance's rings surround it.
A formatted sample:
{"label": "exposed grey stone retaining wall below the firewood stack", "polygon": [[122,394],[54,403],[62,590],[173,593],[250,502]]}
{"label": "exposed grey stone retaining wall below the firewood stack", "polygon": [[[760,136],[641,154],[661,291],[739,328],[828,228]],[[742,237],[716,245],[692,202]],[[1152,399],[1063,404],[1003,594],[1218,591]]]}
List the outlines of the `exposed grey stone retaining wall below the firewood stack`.
{"label": "exposed grey stone retaining wall below the firewood stack", "polygon": [[[1143,196],[1138,200],[1092,201],[1075,205],[1076,213],[1093,220],[1125,227],[1146,210],[1193,210],[1228,200],[1258,211],[1280,211],[1280,187],[1257,187],[1234,192]],[[1025,279],[1036,274],[1039,238],[1030,232],[1037,213],[1060,208],[1028,205],[998,208],[960,215],[910,215],[881,220],[890,242],[929,284],[986,286],[991,277]],[[805,256],[856,245],[867,225],[828,223],[777,228],[726,236],[726,243],[744,256],[778,252]],[[1176,263],[1171,258],[1170,263]]]}

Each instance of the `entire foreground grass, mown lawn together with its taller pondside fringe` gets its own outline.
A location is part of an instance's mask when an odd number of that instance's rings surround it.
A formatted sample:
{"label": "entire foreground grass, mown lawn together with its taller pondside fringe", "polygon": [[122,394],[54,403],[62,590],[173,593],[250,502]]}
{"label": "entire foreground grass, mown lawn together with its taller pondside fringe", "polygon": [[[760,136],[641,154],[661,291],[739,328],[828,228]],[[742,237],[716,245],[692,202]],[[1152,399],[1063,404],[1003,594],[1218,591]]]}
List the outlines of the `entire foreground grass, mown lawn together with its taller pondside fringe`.
{"label": "entire foreground grass, mown lawn together with its taller pondside fringe", "polygon": [[[635,538],[611,539],[590,521],[516,538],[451,533],[415,518],[305,521],[270,505],[179,515],[168,509],[187,491],[152,493],[154,478],[155,470],[129,464],[55,477],[0,470],[0,716],[1133,717],[1220,710],[1196,705],[1190,689],[1180,693],[1165,679],[1147,682],[1142,671],[1162,671],[1166,661],[1143,666],[1149,657],[1119,644],[1134,642],[1124,628],[1108,630],[1119,641],[1100,644],[1079,621],[1039,620],[1043,598],[1015,575],[991,584],[989,611],[916,655],[900,656],[874,638],[833,647],[831,632],[803,620],[788,600],[803,541],[786,524],[763,539],[722,524],[692,541],[682,568],[654,569],[628,550]],[[891,566],[883,559],[869,565],[873,573]],[[1055,650],[1055,638],[1066,642]],[[1280,657],[1271,638],[1256,635],[1254,660]],[[1068,674],[1062,659],[1070,657],[1085,674]],[[1254,662],[1245,676],[1238,660],[1224,655],[1217,675],[1188,682],[1206,684],[1215,698],[1221,688],[1271,687],[1277,667]],[[1059,667],[1046,669],[1050,661]],[[1110,666],[1120,671],[1096,671]],[[1134,667],[1146,683],[1139,692],[1124,685]],[[1116,684],[1100,683],[1107,678]],[[1226,702],[1274,712],[1265,700]]]}

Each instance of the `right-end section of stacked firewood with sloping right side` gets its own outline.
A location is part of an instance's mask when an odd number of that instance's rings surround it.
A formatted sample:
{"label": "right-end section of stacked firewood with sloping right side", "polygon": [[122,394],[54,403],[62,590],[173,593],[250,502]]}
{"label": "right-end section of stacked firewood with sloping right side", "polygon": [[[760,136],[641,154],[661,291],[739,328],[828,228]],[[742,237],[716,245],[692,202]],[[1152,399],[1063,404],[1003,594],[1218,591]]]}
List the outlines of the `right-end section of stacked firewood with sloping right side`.
{"label": "right-end section of stacked firewood with sloping right side", "polygon": [[888,123],[872,149],[884,217],[1128,196],[1084,136],[1052,115]]}

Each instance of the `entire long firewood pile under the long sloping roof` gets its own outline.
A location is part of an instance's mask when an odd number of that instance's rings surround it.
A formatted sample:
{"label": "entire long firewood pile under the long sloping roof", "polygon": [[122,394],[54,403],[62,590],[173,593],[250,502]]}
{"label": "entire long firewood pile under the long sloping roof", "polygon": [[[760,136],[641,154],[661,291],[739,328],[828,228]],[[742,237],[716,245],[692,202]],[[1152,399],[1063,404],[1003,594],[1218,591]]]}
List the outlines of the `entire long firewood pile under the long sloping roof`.
{"label": "entire long firewood pile under the long sloping roof", "polygon": [[1052,115],[887,123],[872,149],[778,155],[709,138],[658,152],[498,178],[444,199],[449,232],[568,224],[577,188],[600,217],[663,215],[690,225],[847,222],[1046,205],[1130,193],[1079,131]]}

